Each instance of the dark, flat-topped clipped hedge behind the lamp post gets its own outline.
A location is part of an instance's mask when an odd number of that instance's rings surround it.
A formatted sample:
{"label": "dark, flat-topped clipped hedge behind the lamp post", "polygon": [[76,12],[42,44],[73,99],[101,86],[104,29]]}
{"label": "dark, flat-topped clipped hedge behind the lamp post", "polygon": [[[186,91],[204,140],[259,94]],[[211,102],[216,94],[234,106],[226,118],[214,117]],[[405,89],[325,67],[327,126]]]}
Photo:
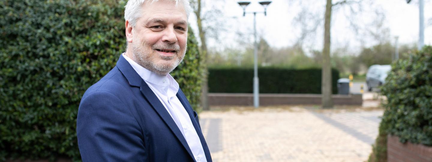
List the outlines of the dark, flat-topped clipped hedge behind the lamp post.
{"label": "dark, flat-topped clipped hedge behind the lamp post", "polygon": [[[222,67],[209,69],[209,92],[252,93],[254,70],[251,68]],[[286,69],[260,67],[260,93],[321,94],[321,69]],[[332,69],[332,90],[337,93],[339,71]]]}

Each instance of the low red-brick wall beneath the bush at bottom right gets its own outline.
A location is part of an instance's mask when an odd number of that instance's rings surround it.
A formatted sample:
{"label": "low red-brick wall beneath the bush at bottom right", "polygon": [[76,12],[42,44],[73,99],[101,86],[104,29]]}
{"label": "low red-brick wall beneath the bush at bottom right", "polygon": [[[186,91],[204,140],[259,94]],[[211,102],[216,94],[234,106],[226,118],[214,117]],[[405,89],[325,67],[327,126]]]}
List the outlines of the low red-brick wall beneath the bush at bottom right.
{"label": "low red-brick wall beneath the bush at bottom right", "polygon": [[410,142],[400,143],[399,137],[387,137],[388,162],[432,162],[432,147]]}

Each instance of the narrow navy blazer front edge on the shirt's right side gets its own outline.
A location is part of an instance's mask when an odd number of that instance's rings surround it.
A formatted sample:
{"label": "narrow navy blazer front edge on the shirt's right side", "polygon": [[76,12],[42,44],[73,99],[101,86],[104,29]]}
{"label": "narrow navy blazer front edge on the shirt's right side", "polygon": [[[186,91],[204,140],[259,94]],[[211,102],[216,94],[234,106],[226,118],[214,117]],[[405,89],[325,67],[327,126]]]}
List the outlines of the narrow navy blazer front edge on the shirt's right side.
{"label": "narrow navy blazer front edge on the shirt's right side", "polygon": [[193,109],[191,107],[191,104],[189,103],[189,101],[187,101],[186,95],[184,95],[184,93],[183,93],[183,91],[181,91],[181,89],[178,89],[177,98],[178,98],[178,100],[180,100],[181,105],[183,105],[184,109],[186,109],[187,114],[189,114],[189,117],[191,118],[192,124],[194,125],[195,130],[197,131],[198,137],[200,137],[201,145],[203,146],[204,153],[206,154],[207,162],[211,162],[212,160],[211,160],[211,156],[210,156],[210,150],[209,150],[209,147],[207,146],[206,140],[204,139],[203,132],[201,131],[201,127],[199,126],[197,121],[195,121],[194,113],[192,112]]}

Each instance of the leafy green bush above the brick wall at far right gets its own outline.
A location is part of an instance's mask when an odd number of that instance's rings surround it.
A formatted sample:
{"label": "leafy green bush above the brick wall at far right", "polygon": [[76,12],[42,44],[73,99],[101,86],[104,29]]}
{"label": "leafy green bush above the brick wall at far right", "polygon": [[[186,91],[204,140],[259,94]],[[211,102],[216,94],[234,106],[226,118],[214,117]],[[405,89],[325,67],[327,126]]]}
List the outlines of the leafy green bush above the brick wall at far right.
{"label": "leafy green bush above the brick wall at far right", "polygon": [[381,93],[388,98],[382,120],[387,133],[432,146],[432,46],[392,64]]}

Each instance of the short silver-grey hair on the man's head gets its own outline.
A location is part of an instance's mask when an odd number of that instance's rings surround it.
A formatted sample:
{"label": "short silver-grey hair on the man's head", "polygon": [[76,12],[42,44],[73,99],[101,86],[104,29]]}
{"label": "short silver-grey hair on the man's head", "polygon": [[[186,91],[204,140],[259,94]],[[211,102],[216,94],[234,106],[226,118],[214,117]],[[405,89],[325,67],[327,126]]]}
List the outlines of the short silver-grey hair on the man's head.
{"label": "short silver-grey hair on the man's head", "polygon": [[[124,6],[124,20],[129,20],[129,24],[135,27],[137,24],[137,19],[140,17],[140,13],[142,11],[142,5],[144,2],[150,0],[128,0],[126,6]],[[152,0],[151,3],[154,3],[158,0]],[[178,5],[178,2],[182,2],[184,6],[184,10],[186,10],[186,16],[189,18],[189,13],[192,8],[189,5],[189,0],[172,0],[175,1],[175,5]]]}

